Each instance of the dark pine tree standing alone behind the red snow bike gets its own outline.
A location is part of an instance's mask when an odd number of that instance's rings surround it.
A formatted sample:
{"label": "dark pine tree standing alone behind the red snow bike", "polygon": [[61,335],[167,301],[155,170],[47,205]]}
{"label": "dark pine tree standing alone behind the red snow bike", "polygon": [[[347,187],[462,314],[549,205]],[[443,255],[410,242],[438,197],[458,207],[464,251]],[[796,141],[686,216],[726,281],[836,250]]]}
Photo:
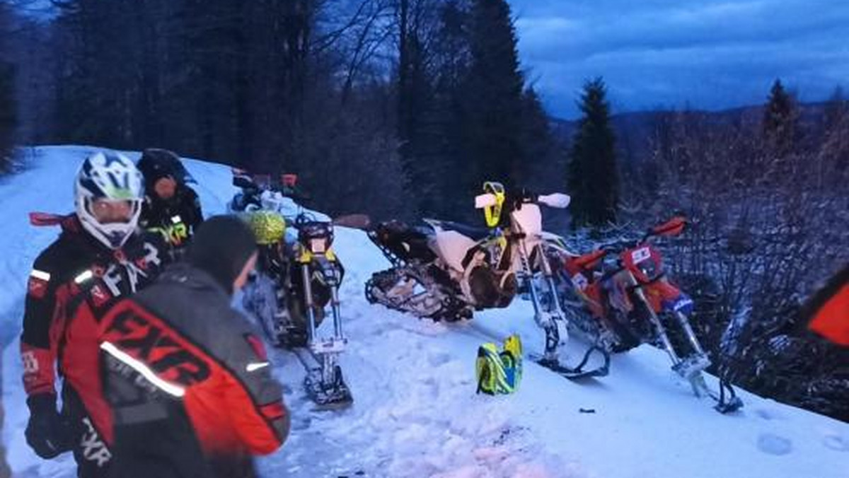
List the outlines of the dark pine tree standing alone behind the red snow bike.
{"label": "dark pine tree standing alone behind the red snow bike", "polygon": [[569,163],[573,227],[616,221],[619,175],[606,94],[600,77],[584,83],[579,103],[583,117],[578,122]]}

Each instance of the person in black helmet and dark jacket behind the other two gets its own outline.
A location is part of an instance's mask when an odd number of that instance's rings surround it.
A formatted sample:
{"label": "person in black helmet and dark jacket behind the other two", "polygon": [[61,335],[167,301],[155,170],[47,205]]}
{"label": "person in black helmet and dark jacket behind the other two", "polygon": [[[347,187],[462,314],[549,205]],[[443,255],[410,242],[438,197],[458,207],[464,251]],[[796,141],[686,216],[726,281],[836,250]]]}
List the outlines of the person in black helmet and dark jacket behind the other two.
{"label": "person in black helmet and dark jacket behind the other two", "polygon": [[161,233],[173,256],[183,256],[188,240],[204,220],[198,194],[188,186],[194,178],[167,149],[145,149],[138,170],[144,177],[145,193],[139,225]]}

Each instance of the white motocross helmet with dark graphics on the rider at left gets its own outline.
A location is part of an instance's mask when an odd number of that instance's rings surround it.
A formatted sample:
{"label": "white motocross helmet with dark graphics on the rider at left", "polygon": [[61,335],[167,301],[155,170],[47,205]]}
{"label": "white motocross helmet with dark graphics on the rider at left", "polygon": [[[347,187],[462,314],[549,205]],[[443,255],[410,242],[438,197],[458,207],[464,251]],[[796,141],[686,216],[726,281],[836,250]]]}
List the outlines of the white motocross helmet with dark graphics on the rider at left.
{"label": "white motocross helmet with dark graphics on the rider at left", "polygon": [[[98,151],[82,161],[74,182],[74,205],[82,227],[110,249],[120,249],[138,225],[142,212],[144,185],[142,173],[127,156],[114,151]],[[98,222],[94,200],[129,201],[132,214],[126,222]]]}

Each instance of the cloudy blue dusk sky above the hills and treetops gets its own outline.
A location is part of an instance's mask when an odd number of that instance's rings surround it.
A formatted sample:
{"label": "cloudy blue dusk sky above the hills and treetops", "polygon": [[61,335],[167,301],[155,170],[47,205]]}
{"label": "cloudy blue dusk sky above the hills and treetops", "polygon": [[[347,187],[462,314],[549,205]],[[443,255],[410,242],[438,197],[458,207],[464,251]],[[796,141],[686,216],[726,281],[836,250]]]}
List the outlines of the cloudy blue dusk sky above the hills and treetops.
{"label": "cloudy blue dusk sky above the hills and treetops", "polygon": [[802,99],[849,77],[849,3],[513,0],[522,64],[548,109],[573,117],[604,76],[616,110],[760,103],[777,77]]}

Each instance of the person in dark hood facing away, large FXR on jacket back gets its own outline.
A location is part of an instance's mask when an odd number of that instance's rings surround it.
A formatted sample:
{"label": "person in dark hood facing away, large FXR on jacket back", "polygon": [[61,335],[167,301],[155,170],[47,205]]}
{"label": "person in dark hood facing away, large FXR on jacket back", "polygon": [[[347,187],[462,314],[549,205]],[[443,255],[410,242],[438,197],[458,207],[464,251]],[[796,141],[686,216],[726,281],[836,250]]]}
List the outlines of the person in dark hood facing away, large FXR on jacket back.
{"label": "person in dark hood facing away, large FXR on jacket back", "polygon": [[256,476],[252,455],[289,434],[282,387],[252,325],[231,308],[256,263],[238,217],[201,224],[187,260],[103,320],[114,475]]}

